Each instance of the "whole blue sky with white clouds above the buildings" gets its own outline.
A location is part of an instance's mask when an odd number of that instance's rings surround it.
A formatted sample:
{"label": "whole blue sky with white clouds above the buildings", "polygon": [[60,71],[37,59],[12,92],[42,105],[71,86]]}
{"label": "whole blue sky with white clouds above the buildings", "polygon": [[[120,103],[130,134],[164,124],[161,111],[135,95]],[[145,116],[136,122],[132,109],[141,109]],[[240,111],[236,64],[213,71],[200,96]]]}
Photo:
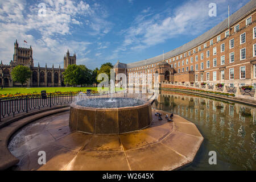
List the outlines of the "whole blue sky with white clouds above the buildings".
{"label": "whole blue sky with white clouds above the buildings", "polygon": [[[216,3],[217,16],[208,15]],[[171,51],[203,34],[249,0],[0,0],[0,60],[13,60],[14,42],[33,48],[34,65],[63,68],[69,49],[77,64],[132,63]],[[46,11],[41,11],[44,3]],[[38,12],[45,12],[40,16]]]}

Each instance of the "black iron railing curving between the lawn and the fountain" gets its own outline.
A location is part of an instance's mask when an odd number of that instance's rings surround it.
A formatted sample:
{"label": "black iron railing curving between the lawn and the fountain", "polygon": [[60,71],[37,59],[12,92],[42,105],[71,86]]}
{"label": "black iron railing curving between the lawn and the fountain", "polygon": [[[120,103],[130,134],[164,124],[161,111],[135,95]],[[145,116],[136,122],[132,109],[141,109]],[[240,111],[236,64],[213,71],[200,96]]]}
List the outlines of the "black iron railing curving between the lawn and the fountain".
{"label": "black iron railing curving between the lawn and the fountain", "polygon": [[142,98],[141,92],[115,92],[115,93],[47,93],[46,97],[42,94],[30,96],[18,96],[0,98],[0,122],[3,118],[14,117],[20,113],[29,113],[30,111],[47,109],[54,106],[70,105],[77,99],[104,98],[104,97],[133,97]]}

